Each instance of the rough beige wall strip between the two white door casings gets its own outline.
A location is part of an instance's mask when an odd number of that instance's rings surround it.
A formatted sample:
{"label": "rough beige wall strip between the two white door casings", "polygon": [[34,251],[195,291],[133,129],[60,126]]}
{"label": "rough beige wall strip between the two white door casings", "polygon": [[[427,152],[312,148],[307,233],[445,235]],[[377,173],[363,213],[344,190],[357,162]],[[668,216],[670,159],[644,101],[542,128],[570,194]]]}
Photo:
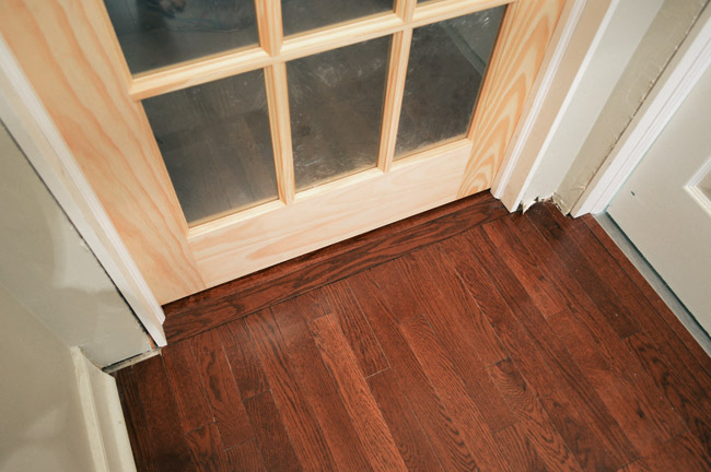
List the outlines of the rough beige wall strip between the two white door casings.
{"label": "rough beige wall strip between the two white door casings", "polygon": [[664,1],[555,191],[564,213],[583,194],[707,3]]}

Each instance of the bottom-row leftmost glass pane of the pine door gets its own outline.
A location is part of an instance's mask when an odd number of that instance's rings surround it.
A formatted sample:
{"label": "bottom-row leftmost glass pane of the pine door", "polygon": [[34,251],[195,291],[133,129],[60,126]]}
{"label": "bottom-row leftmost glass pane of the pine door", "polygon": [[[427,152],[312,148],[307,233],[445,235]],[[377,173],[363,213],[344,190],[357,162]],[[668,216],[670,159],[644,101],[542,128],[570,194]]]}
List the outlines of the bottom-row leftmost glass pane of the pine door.
{"label": "bottom-row leftmost glass pane of the pine door", "polygon": [[277,198],[261,70],[143,107],[188,223]]}

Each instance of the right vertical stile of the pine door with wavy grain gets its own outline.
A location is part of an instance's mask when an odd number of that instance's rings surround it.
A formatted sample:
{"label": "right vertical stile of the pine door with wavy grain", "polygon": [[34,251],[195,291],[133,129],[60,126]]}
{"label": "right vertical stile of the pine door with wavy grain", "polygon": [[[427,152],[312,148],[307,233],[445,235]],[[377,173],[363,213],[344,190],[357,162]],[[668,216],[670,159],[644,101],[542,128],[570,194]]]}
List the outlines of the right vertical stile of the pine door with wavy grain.
{"label": "right vertical stile of the pine door with wavy grain", "polygon": [[459,197],[491,187],[563,4],[564,0],[534,0],[509,5],[471,122],[475,145]]}

